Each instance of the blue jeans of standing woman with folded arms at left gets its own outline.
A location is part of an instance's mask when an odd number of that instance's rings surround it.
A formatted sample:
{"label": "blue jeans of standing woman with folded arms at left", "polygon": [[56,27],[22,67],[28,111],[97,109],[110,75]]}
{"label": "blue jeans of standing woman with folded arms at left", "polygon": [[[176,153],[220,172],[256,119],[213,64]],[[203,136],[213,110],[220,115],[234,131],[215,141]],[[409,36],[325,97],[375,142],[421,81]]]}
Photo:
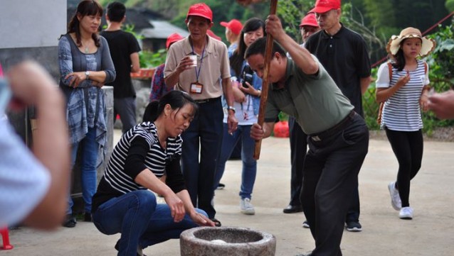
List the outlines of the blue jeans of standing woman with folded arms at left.
{"label": "blue jeans of standing woman with folded arms at left", "polygon": [[[71,169],[75,165],[75,159],[80,147],[80,174],[82,183],[82,198],[85,203],[85,213],[91,213],[92,197],[96,192],[96,163],[99,144],[96,142],[96,128],[88,128],[88,133],[83,140],[71,148]],[[67,214],[73,213],[73,199],[68,196]]]}

